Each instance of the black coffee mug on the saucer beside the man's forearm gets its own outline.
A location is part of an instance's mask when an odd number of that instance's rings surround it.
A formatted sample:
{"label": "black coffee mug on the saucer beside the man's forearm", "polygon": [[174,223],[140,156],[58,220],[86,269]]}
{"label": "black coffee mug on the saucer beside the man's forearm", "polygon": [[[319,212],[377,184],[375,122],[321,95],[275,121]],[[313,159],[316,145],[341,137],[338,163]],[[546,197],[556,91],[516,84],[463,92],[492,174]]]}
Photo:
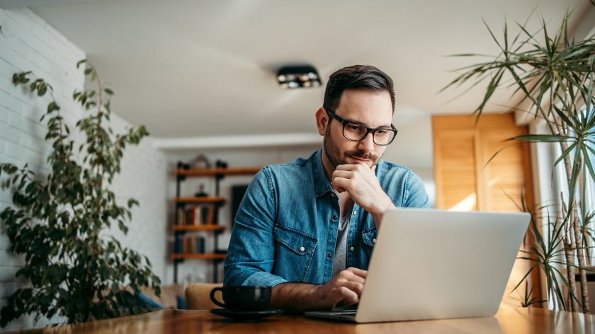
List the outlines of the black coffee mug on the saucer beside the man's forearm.
{"label": "black coffee mug on the saucer beside the man's forearm", "polygon": [[[213,303],[232,311],[262,311],[269,308],[272,287],[254,287],[249,285],[233,285],[216,287],[210,292]],[[215,292],[223,294],[223,301],[215,298]]]}

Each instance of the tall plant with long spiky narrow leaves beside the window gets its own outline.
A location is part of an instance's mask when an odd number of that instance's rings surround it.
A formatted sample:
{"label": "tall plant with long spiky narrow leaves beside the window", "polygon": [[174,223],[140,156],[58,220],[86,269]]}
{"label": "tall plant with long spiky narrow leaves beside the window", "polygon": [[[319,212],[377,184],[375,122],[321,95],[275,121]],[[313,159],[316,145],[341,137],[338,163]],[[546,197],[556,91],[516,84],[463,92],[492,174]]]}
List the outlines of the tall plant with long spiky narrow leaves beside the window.
{"label": "tall plant with long spiky narrow leaves beside the window", "polygon": [[[595,4],[592,0],[591,3]],[[553,205],[533,212],[529,235],[535,246],[522,257],[533,265],[523,281],[531,271],[540,270],[545,275],[550,300],[568,311],[579,310],[580,304],[584,312],[589,313],[586,272],[591,263],[588,250],[595,239],[591,228],[594,214],[587,206],[586,185],[595,180],[591,161],[591,154],[595,154],[595,38],[571,40],[567,27],[569,17],[567,11],[554,35],[548,32],[543,18],[536,33],[530,33],[526,23],[517,24],[520,32],[513,40],[509,39],[505,24],[502,42],[486,24],[501,52],[487,62],[463,68],[463,74],[443,90],[465,82],[476,86],[487,81],[482,102],[474,112],[478,118],[494,93],[508,89],[512,91],[512,98],[521,96],[513,109],[545,120],[549,134],[529,134],[513,139],[559,145],[562,153],[557,156],[555,166],[561,165],[565,171],[568,192],[561,195],[561,209]],[[540,41],[542,38],[543,42]],[[524,104],[528,108],[521,110],[520,106]],[[540,212],[545,212],[543,217]],[[541,218],[547,221],[543,226],[538,223]],[[580,298],[575,287],[575,270],[581,277]],[[528,304],[532,300],[526,298]]]}

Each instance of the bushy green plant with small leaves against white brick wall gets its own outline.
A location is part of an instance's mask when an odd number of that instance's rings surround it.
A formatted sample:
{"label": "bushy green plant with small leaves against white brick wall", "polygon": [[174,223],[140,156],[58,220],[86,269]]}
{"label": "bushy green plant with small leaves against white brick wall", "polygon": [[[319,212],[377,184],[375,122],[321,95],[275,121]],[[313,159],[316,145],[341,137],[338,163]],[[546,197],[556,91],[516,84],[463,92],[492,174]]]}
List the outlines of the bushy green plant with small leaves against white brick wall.
{"label": "bushy green plant with small leaves against white brick wall", "polygon": [[111,224],[128,232],[130,209],[138,202],[118,205],[108,189],[120,172],[120,161],[128,144],[136,145],[148,135],[145,127],[113,134],[109,126],[113,91],[99,80],[94,67],[82,60],[84,73],[96,90],[75,91],[73,98],[86,110],[77,122],[84,134],[75,151],[75,140],[60,115],[53,89],[30,71],[13,75],[13,84],[37,96],[49,94],[45,140],[52,143],[47,157],[47,175],[36,175],[25,165],[0,164],[3,189],[13,191],[14,207],[0,213],[11,241],[11,250],[24,255],[24,266],[16,272],[29,284],[8,299],[0,313],[0,326],[23,314],[51,318],[58,315],[69,323],[113,318],[144,311],[132,290],[150,286],[160,294],[160,280],[151,271],[147,257],[124,248],[113,236],[101,236]]}

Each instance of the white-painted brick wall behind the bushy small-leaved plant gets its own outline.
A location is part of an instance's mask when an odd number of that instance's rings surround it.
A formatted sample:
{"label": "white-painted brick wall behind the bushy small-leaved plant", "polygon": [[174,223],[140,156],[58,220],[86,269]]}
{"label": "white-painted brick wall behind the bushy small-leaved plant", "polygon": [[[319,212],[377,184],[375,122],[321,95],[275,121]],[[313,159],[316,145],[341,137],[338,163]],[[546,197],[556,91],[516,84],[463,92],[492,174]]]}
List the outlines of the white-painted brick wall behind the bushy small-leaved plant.
{"label": "white-painted brick wall behind the bushy small-leaved plant", "polygon": [[[55,98],[62,107],[62,115],[74,129],[81,112],[72,101],[72,92],[84,86],[84,75],[76,69],[84,51],[64,38],[57,30],[26,8],[0,10],[4,35],[0,35],[0,162],[29,166],[38,173],[46,171],[45,161],[50,146],[44,142],[45,126],[39,118],[47,107],[48,98],[35,98],[11,83],[16,71],[32,70],[46,79],[55,89]],[[118,93],[118,92],[116,92]],[[118,106],[113,105],[117,112]],[[128,122],[113,115],[115,131],[124,129]],[[149,129],[150,130],[150,129]],[[153,148],[152,139],[145,138],[140,146],[128,147],[122,164],[122,173],[114,180],[113,191],[120,204],[135,197],[140,207],[133,211],[128,236],[122,236],[113,226],[106,234],[113,234],[123,246],[147,255],[155,274],[166,272],[166,168],[162,152]],[[11,193],[0,191],[0,210],[11,205]],[[6,297],[21,286],[14,273],[22,261],[11,254],[6,227],[0,225],[0,308]],[[59,321],[52,319],[50,322]],[[38,326],[44,326],[42,319]],[[30,317],[14,321],[8,328],[32,326]]]}

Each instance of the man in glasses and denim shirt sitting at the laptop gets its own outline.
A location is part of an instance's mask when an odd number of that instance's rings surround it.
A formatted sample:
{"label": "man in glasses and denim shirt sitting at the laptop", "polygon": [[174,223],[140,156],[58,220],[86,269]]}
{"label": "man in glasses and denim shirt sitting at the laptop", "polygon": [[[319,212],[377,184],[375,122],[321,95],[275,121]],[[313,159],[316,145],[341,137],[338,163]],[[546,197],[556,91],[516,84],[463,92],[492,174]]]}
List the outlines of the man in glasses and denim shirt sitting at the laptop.
{"label": "man in glasses and denim shirt sitting at the laptop", "polygon": [[316,112],[322,149],[256,174],[234,221],[226,285],[272,286],[271,307],[293,312],[358,303],[382,215],[429,206],[417,175],[380,160],[397,134],[394,110],[379,69],[330,76]]}

